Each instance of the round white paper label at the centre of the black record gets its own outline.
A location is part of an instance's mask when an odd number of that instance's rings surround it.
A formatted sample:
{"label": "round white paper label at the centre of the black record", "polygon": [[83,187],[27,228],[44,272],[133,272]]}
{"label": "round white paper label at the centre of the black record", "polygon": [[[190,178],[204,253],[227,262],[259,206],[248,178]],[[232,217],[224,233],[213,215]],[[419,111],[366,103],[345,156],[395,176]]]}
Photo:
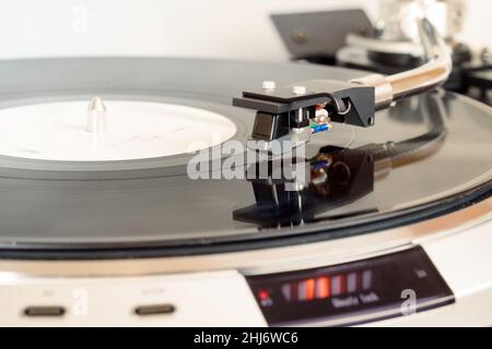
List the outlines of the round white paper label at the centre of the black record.
{"label": "round white paper label at the centre of the black record", "polygon": [[0,155],[59,161],[172,156],[215,146],[234,122],[208,110],[151,101],[105,100],[107,129],[87,131],[87,100],[0,110]]}

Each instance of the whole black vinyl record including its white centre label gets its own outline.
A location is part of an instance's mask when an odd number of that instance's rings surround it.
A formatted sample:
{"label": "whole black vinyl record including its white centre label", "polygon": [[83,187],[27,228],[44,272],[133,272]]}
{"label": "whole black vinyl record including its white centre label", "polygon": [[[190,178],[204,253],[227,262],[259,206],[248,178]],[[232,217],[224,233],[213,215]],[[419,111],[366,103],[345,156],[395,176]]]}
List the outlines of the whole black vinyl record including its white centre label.
{"label": "whole black vinyl record including its white centre label", "polygon": [[[254,112],[231,106],[243,88],[265,80],[347,81],[363,73],[303,64],[105,58],[5,61],[0,74],[0,246],[8,256],[164,255],[335,239],[440,215],[490,194],[491,109],[452,93],[402,101],[378,112],[371,129],[337,124],[316,135],[306,157],[342,149],[330,156],[350,165],[338,167],[350,180],[333,179],[324,186],[328,192],[306,188],[296,196],[303,205],[286,200],[273,209],[265,200],[258,204],[258,191],[247,179],[191,179],[192,154],[183,152],[184,145],[190,139],[206,143],[195,149],[229,139],[244,143]],[[159,134],[162,143],[147,146],[137,140],[115,152],[91,153],[92,135],[82,129],[93,96],[106,101],[110,132],[121,127],[131,133],[147,124],[143,131]],[[73,136],[54,127],[72,112]],[[117,123],[118,115],[138,122]],[[179,116],[173,118],[178,120],[174,129],[168,116]],[[32,129],[21,146],[9,132],[25,125]],[[188,127],[184,139],[178,130]],[[215,131],[220,136],[210,141]],[[56,146],[39,142],[46,136]],[[42,143],[49,147],[39,149]],[[395,145],[405,156],[377,163],[371,149],[378,144]]]}

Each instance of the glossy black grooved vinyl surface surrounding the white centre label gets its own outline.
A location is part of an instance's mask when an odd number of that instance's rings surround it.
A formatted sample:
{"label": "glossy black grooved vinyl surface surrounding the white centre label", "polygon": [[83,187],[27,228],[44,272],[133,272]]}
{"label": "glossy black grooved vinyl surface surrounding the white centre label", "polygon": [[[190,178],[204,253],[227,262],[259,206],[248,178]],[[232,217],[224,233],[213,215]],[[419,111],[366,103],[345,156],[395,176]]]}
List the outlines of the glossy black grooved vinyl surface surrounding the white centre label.
{"label": "glossy black grooved vinyl surface surrounding the white centre label", "polygon": [[[104,58],[4,61],[0,74],[1,108],[40,100],[89,100],[95,94],[164,100],[221,112],[237,123],[235,139],[245,141],[254,111],[231,106],[232,97],[242,91],[256,88],[263,80],[283,85],[316,79],[347,81],[364,73],[307,64]],[[462,193],[490,189],[491,115],[487,106],[438,92],[378,112],[373,128],[336,124],[331,132],[314,136],[306,158],[336,146],[345,152],[336,156],[350,161],[350,154],[362,154],[371,159],[371,167],[352,186],[326,183],[331,194],[313,186],[294,194],[308,209],[298,208],[292,200],[282,207],[270,205],[274,215],[268,222],[256,219],[259,216],[237,215],[258,208],[250,181],[192,181],[186,176],[187,155],[79,166],[3,157],[0,245],[3,251],[213,249],[219,243],[314,231],[332,231],[331,238],[355,233],[355,227],[389,221],[423,207],[444,207]],[[393,144],[406,155],[393,154]],[[356,189],[358,183],[365,186]],[[265,202],[260,204],[265,208]],[[398,222],[387,224],[391,225]]]}

